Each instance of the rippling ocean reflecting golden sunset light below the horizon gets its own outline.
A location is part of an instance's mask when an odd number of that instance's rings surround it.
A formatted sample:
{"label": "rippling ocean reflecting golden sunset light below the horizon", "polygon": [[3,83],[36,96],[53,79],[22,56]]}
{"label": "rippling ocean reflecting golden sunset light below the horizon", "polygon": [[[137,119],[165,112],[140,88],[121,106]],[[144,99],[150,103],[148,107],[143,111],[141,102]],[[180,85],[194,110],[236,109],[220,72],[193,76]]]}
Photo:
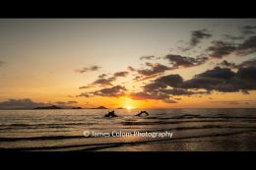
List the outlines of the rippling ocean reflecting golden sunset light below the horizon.
{"label": "rippling ocean reflecting golden sunset light below the horizon", "polygon": [[256,109],[0,110],[0,149],[26,151],[252,151]]}

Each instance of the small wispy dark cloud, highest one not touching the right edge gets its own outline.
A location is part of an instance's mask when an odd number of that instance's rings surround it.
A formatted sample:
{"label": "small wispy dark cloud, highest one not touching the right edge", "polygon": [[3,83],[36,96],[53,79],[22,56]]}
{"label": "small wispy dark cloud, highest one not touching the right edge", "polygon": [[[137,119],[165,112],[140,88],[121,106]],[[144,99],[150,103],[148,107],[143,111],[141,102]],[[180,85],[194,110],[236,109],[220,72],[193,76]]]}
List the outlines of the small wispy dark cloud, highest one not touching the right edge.
{"label": "small wispy dark cloud, highest one not touching the right edge", "polygon": [[210,38],[212,34],[207,29],[191,31],[190,46],[194,47],[200,43],[202,39]]}

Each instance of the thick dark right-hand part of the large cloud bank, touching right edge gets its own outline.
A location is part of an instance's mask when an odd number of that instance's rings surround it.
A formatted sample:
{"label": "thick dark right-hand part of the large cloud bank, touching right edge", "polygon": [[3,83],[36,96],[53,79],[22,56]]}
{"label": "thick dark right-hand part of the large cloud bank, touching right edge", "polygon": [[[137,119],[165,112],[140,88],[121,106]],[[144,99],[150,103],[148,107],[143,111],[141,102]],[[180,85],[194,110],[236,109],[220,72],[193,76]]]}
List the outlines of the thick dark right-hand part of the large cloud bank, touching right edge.
{"label": "thick dark right-hand part of the large cloud bank, touching right edge", "polygon": [[239,68],[236,73],[227,68],[217,67],[196,75],[193,79],[185,81],[180,87],[222,92],[253,90],[256,89],[255,74],[255,67]]}

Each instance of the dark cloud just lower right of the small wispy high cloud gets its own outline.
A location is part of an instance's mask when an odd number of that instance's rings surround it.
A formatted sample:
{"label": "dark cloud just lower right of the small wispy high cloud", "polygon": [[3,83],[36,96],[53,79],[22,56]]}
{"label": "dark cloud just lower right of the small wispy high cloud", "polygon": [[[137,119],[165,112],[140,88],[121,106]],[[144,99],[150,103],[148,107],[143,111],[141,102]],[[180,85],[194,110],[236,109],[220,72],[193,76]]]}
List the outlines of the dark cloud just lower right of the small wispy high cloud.
{"label": "dark cloud just lower right of the small wispy high cloud", "polygon": [[207,51],[211,52],[210,56],[213,58],[223,58],[234,52],[237,48],[234,44],[222,40],[213,41],[213,44],[213,46],[207,49]]}

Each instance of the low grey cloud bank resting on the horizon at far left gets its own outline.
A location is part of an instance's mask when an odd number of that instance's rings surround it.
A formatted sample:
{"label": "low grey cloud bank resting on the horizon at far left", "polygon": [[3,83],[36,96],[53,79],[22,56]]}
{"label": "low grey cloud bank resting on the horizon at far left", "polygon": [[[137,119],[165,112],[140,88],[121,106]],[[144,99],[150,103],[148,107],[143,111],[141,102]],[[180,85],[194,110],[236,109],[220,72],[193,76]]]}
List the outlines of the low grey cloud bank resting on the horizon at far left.
{"label": "low grey cloud bank resting on the horizon at far left", "polygon": [[34,102],[30,98],[9,99],[7,101],[0,102],[1,109],[32,109],[34,107],[47,105],[49,104],[42,102]]}

